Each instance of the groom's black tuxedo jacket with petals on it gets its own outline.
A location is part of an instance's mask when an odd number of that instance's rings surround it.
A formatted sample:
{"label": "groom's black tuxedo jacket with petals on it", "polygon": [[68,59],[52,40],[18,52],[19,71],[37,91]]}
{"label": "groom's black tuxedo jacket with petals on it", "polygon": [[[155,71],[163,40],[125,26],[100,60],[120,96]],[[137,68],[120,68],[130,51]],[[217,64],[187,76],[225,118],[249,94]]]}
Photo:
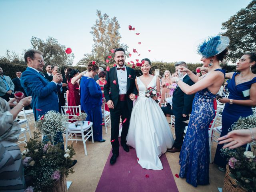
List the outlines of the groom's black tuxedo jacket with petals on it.
{"label": "groom's black tuxedo jacket with petals on it", "polygon": [[[130,100],[129,95],[131,93],[137,95],[138,91],[135,86],[135,78],[136,78],[135,70],[126,66],[126,72],[127,72],[126,101],[128,104],[128,110],[131,112],[133,101]],[[116,84],[114,84],[113,82],[114,80],[116,81]],[[109,100],[112,100],[114,102],[114,108],[117,106],[118,100],[119,100],[119,85],[118,85],[118,79],[116,74],[116,66],[110,68],[109,72],[107,72],[106,74],[106,84],[104,85],[104,96],[106,98],[106,102],[108,102]]]}

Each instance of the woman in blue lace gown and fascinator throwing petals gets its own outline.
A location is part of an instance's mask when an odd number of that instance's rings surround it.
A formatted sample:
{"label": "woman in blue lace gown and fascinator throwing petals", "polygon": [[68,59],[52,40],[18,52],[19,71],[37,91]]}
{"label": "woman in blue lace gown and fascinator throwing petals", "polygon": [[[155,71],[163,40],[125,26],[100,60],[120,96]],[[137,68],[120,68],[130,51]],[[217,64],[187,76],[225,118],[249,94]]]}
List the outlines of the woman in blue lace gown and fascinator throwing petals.
{"label": "woman in blue lace gown and fascinator throwing petals", "polygon": [[196,93],[179,160],[180,178],[186,178],[186,182],[195,187],[209,184],[208,128],[215,115],[213,100],[224,81],[225,72],[219,62],[228,53],[228,43],[227,37],[216,36],[199,45],[198,53],[202,54],[203,66],[209,67],[208,74],[198,77],[190,70],[180,68],[195,82],[194,85],[189,86],[180,78],[172,78],[172,82],[176,82],[184,93]]}

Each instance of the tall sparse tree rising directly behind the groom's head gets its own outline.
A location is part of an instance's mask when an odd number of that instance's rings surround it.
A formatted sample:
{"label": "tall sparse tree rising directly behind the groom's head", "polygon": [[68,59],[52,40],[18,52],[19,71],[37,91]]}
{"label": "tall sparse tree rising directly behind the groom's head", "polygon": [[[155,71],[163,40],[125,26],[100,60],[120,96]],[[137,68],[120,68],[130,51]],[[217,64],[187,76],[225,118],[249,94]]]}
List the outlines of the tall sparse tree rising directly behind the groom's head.
{"label": "tall sparse tree rising directly behind the groom's head", "polygon": [[[122,47],[127,52],[128,45],[120,44],[121,36],[118,31],[120,25],[116,17],[109,18],[106,13],[102,15],[100,10],[96,11],[96,15],[98,19],[90,32],[94,41],[92,53],[95,53],[96,58],[106,63],[106,59],[109,59],[108,56],[113,56],[110,50]],[[128,56],[128,53],[126,54]],[[110,64],[114,63],[113,59],[109,60]]]}

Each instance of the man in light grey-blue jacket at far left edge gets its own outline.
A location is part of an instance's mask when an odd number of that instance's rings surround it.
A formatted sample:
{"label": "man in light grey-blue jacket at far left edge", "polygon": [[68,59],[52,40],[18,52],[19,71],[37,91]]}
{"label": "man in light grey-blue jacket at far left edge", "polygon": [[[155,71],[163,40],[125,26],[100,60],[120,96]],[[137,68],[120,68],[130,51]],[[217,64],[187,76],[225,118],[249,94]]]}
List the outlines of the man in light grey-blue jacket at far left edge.
{"label": "man in light grey-blue jacket at far left edge", "polygon": [[2,67],[0,67],[0,97],[9,101],[9,97],[14,97],[14,84],[9,76],[4,75]]}

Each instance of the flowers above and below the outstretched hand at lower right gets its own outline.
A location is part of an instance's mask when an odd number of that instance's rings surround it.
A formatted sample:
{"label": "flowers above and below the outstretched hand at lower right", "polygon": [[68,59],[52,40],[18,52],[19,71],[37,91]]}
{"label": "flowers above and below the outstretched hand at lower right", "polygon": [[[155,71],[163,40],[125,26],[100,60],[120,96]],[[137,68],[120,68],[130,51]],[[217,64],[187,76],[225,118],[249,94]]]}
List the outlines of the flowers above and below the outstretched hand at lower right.
{"label": "flowers above and below the outstretched hand at lower right", "polygon": [[[256,127],[256,117],[251,115],[245,118],[240,117],[231,126],[231,130],[248,129]],[[256,192],[256,146],[252,146],[252,151],[245,151],[245,148],[221,149],[222,156],[228,158],[227,168],[229,176],[236,181],[236,186],[248,192]]]}

